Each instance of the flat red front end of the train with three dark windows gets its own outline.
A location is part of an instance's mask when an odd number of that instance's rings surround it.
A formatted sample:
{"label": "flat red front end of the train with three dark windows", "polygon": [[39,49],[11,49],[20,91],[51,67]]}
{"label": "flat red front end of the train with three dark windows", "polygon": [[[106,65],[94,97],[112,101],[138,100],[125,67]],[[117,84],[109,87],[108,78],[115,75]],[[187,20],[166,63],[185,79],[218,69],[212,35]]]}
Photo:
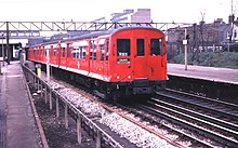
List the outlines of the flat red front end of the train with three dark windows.
{"label": "flat red front end of the train with three dark windows", "polygon": [[135,29],[114,41],[113,81],[124,95],[150,95],[167,80],[166,41],[161,32]]}

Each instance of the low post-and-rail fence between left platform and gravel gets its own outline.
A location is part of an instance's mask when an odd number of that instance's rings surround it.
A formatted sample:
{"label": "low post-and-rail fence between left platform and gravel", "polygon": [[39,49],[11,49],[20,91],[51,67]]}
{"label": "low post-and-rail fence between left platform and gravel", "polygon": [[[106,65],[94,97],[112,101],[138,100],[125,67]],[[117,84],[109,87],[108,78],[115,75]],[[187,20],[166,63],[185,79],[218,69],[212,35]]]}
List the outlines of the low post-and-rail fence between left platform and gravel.
{"label": "low post-and-rail fence between left platform and gravel", "polygon": [[[32,84],[34,89],[40,92],[41,98],[44,97],[45,104],[49,102],[50,109],[53,109],[53,99],[55,100],[56,117],[60,117],[60,105],[63,105],[65,112],[65,127],[68,129],[69,116],[74,116],[77,123],[77,139],[78,143],[82,142],[82,123],[90,130],[92,138],[95,139],[96,148],[101,146],[108,146],[114,148],[122,148],[122,146],[117,143],[111,136],[105,133],[98,125],[96,125],[92,120],[90,120],[83,112],[81,112],[76,106],[74,106],[69,100],[62,96],[57,91],[53,90],[45,81],[41,80],[35,72],[32,72],[25,65],[22,66],[25,78],[28,83]],[[44,96],[43,96],[44,95]],[[70,112],[70,115],[69,115]]]}

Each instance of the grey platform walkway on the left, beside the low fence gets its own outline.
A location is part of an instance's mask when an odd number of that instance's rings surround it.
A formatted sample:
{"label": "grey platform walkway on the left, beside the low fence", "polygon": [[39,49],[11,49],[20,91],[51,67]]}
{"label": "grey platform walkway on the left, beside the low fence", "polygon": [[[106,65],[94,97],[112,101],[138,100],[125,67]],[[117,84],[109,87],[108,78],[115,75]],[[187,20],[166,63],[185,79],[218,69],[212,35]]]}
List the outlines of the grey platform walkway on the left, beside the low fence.
{"label": "grey platform walkway on the left, beside the low fence", "polygon": [[0,75],[0,148],[41,148],[19,62]]}

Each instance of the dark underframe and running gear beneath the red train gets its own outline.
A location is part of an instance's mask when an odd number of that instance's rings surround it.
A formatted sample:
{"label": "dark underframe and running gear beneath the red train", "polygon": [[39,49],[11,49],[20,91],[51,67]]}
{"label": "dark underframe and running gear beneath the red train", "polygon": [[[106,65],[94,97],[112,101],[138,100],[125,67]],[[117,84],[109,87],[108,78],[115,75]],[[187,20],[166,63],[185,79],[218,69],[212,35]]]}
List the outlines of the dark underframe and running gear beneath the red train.
{"label": "dark underframe and running gear beneath the red train", "polygon": [[[45,70],[45,65],[43,69]],[[55,67],[51,68],[51,73],[61,79],[87,86],[95,95],[113,100],[124,97],[153,96],[155,92],[163,90],[166,85],[164,81],[148,81],[147,79],[138,79],[133,82],[105,82]]]}

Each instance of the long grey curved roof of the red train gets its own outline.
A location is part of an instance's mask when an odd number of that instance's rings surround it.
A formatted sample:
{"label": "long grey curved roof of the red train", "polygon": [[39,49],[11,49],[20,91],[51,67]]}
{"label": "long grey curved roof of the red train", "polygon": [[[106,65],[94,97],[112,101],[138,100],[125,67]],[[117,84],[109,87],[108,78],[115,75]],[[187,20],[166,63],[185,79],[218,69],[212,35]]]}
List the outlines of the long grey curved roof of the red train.
{"label": "long grey curved roof of the red train", "polygon": [[156,30],[156,31],[162,32],[161,30],[159,30],[157,28],[153,28],[150,26],[120,27],[120,28],[116,28],[116,29],[111,29],[111,30],[106,30],[106,31],[93,31],[93,32],[89,32],[89,33],[83,33],[83,35],[75,36],[75,37],[71,37],[71,38],[64,39],[64,40],[44,42],[44,43],[41,43],[41,44],[32,45],[32,48],[34,46],[38,46],[38,45],[55,44],[55,43],[58,43],[58,42],[69,42],[69,41],[72,41],[72,40],[82,40],[82,39],[97,38],[97,37],[101,37],[101,36],[109,36],[109,35],[111,36],[111,35],[117,33],[119,31],[131,30],[131,29],[151,29],[151,30]]}

